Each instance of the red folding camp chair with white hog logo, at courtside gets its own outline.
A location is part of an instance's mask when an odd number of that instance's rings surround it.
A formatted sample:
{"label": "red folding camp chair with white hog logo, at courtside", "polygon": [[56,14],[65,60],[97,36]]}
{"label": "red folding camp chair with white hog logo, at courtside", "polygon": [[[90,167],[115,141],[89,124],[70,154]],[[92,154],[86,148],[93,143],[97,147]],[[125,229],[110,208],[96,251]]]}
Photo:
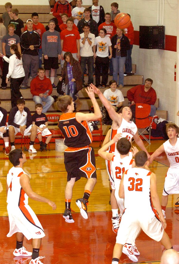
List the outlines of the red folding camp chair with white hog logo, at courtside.
{"label": "red folding camp chair with white hog logo, at courtside", "polygon": [[[142,136],[149,144],[150,136],[151,136],[151,128],[154,117],[150,116],[150,105],[147,104],[134,104],[130,105],[132,110],[132,116],[135,119],[135,125],[137,128],[142,129],[142,131],[138,130],[140,136]],[[149,139],[146,138],[144,132],[147,131],[149,133]]]}

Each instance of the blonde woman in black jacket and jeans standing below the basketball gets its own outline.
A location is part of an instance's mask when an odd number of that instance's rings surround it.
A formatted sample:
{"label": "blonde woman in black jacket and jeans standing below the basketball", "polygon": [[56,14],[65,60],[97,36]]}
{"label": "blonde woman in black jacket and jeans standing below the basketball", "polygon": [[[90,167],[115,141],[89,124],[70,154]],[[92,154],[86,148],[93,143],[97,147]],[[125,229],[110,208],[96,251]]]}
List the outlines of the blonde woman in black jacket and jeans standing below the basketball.
{"label": "blonde woman in black jacket and jeans standing below the basketball", "polygon": [[[117,28],[115,36],[111,39],[112,43],[112,79],[118,83],[120,89],[124,86],[124,64],[126,61],[127,50],[130,49],[129,39],[124,35],[124,29]],[[118,80],[119,73],[119,80]]]}

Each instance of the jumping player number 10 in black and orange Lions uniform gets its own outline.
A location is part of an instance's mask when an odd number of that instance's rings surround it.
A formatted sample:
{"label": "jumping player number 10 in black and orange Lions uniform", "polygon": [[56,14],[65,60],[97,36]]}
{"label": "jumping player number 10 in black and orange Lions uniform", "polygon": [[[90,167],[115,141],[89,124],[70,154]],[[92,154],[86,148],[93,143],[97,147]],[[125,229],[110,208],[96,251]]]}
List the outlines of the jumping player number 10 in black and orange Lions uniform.
{"label": "jumping player number 10 in black and orange Lions uniform", "polygon": [[76,204],[84,219],[88,219],[87,205],[90,194],[96,184],[96,169],[94,150],[89,144],[92,134],[87,121],[101,118],[101,111],[95,99],[92,88],[85,89],[92,101],[94,113],[73,113],[74,102],[72,97],[65,95],[58,97],[58,109],[63,112],[59,119],[59,128],[64,135],[64,164],[67,171],[67,185],[65,188],[65,211],[63,217],[67,223],[73,223],[71,214],[72,190],[75,181],[81,177],[87,178],[83,198],[77,199]]}

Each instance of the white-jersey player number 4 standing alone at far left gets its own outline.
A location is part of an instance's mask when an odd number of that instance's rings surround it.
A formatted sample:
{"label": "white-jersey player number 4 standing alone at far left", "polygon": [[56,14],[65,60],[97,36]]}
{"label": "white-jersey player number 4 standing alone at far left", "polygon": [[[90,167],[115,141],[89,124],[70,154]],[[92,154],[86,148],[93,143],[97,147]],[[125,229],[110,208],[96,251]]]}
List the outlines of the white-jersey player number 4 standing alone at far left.
{"label": "white-jersey player number 4 standing alone at far left", "polygon": [[[7,212],[9,216],[10,230],[7,237],[16,233],[16,249],[13,254],[19,256],[31,256],[29,264],[43,264],[39,257],[41,238],[45,236],[44,230],[36,214],[28,205],[28,197],[48,203],[53,210],[56,209],[54,202],[35,193],[30,186],[29,176],[23,171],[26,155],[21,149],[10,152],[9,160],[14,165],[7,174]],[[28,252],[23,247],[24,236],[27,240],[32,238],[33,252]]]}

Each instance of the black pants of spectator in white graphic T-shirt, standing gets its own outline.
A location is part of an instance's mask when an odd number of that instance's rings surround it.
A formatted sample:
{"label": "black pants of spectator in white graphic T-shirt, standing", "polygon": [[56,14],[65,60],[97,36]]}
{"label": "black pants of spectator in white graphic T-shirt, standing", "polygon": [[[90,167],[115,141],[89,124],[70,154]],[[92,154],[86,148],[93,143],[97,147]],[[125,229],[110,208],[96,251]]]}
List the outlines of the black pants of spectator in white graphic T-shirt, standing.
{"label": "black pants of spectator in white graphic T-shirt, standing", "polygon": [[102,67],[102,81],[101,85],[107,85],[108,81],[108,70],[109,70],[109,57],[96,57],[95,59],[95,78],[96,86],[100,85],[100,73]]}

